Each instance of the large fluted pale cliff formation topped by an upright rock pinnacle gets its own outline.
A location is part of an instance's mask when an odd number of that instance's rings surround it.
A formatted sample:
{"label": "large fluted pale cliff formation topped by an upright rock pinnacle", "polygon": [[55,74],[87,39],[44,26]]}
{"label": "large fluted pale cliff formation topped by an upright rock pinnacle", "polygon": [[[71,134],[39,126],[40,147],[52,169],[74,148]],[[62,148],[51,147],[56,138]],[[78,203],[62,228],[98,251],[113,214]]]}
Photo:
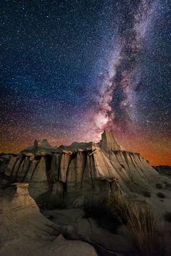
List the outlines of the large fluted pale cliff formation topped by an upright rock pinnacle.
{"label": "large fluted pale cliff formation topped by an upright rock pinnacle", "polygon": [[[1,166],[0,166],[1,170]],[[53,148],[36,141],[1,170],[1,184],[27,182],[30,194],[90,194],[120,189],[129,192],[148,186],[159,174],[138,153],[126,152],[104,132],[99,144],[73,143]]]}

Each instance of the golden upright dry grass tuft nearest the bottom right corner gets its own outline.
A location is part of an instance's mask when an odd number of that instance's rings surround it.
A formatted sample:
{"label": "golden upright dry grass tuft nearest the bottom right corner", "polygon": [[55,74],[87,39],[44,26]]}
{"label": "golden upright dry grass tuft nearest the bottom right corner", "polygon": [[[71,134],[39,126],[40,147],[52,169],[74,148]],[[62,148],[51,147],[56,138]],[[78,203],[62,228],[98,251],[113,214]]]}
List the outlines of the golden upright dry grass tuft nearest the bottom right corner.
{"label": "golden upright dry grass tuft nearest the bottom right corner", "polygon": [[135,248],[140,255],[164,256],[164,239],[157,228],[157,221],[149,207],[131,205],[128,228]]}

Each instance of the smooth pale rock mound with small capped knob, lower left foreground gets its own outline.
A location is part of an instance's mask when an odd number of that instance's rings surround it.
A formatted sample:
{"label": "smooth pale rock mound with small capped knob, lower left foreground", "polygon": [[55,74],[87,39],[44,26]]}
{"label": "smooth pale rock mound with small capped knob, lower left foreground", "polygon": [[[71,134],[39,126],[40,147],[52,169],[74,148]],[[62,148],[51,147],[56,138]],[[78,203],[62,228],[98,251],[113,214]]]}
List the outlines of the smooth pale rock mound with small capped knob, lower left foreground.
{"label": "smooth pale rock mound with small capped knob, lower left foreground", "polygon": [[0,192],[0,256],[97,256],[83,241],[68,241],[59,227],[41,215],[27,183]]}

